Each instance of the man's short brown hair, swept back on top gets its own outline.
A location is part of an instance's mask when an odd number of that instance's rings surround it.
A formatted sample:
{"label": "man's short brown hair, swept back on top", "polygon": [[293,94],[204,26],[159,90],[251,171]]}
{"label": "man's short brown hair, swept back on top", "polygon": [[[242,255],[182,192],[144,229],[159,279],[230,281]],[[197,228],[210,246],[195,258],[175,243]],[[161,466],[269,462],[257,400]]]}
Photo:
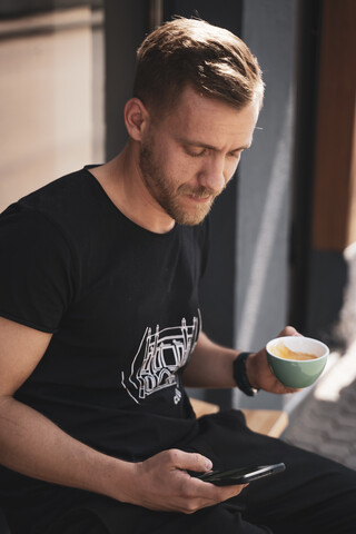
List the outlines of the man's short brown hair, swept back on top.
{"label": "man's short brown hair, swept back on top", "polygon": [[186,86],[241,109],[257,99],[264,82],[257,59],[230,31],[204,20],[177,18],[154,30],[137,51],[134,97],[165,112]]}

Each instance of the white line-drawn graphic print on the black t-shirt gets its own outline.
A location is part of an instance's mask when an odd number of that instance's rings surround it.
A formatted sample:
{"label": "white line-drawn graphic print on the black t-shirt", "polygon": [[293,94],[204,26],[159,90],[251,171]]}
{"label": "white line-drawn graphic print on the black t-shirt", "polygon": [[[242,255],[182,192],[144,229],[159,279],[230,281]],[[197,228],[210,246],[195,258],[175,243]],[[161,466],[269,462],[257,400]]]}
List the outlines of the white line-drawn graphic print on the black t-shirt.
{"label": "white line-drawn graphic print on the black t-shirt", "polygon": [[200,325],[198,309],[198,317],[192,318],[190,326],[182,318],[179,326],[160,330],[157,325],[154,333],[151,328],[146,328],[131,364],[130,376],[126,378],[125,372],[121,372],[121,384],[137,404],[141,404],[148,395],[171,386],[177,386],[174,403],[179,403],[181,393],[178,388],[177,370],[186,365],[194,350]]}

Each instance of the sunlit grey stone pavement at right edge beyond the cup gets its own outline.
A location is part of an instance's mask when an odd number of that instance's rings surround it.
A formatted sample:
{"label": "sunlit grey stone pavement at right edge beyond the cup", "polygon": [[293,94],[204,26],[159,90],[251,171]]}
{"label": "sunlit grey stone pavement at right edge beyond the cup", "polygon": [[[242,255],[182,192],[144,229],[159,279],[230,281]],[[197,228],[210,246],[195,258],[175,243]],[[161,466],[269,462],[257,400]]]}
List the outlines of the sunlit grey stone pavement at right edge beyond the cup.
{"label": "sunlit grey stone pavement at right edge beyond the cup", "polygon": [[291,417],[283,438],[356,469],[356,246],[345,251],[348,285],[336,334],[345,342]]}

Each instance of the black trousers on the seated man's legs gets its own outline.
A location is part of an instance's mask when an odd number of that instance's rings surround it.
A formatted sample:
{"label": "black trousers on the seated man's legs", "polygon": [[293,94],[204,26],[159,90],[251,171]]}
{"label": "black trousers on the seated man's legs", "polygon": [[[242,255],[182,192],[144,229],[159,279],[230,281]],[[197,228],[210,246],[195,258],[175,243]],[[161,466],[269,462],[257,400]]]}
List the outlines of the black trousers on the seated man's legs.
{"label": "black trousers on the seated man's legs", "polygon": [[[356,472],[249,431],[238,411],[199,419],[199,433],[179,448],[200,452],[215,468],[284,462],[286,471],[255,481],[238,497],[191,515],[151,512],[58,486],[27,530],[12,534],[354,534]],[[60,503],[60,506],[59,506]],[[56,513],[55,513],[56,511]],[[52,517],[51,517],[52,512]],[[23,512],[26,516],[26,511]]]}

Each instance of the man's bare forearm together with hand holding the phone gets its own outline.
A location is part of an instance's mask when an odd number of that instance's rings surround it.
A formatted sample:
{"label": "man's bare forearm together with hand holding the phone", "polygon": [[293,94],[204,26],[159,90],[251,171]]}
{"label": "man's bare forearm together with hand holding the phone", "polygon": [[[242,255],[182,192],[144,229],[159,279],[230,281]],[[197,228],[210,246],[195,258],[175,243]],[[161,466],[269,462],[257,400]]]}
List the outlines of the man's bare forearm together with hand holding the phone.
{"label": "man's bare forearm together with hand holding the phone", "polygon": [[198,453],[164,451],[130,463],[73,439],[32,408],[0,398],[0,463],[24,475],[78,487],[150,510],[192,513],[238,495],[189,476],[211,462]]}

